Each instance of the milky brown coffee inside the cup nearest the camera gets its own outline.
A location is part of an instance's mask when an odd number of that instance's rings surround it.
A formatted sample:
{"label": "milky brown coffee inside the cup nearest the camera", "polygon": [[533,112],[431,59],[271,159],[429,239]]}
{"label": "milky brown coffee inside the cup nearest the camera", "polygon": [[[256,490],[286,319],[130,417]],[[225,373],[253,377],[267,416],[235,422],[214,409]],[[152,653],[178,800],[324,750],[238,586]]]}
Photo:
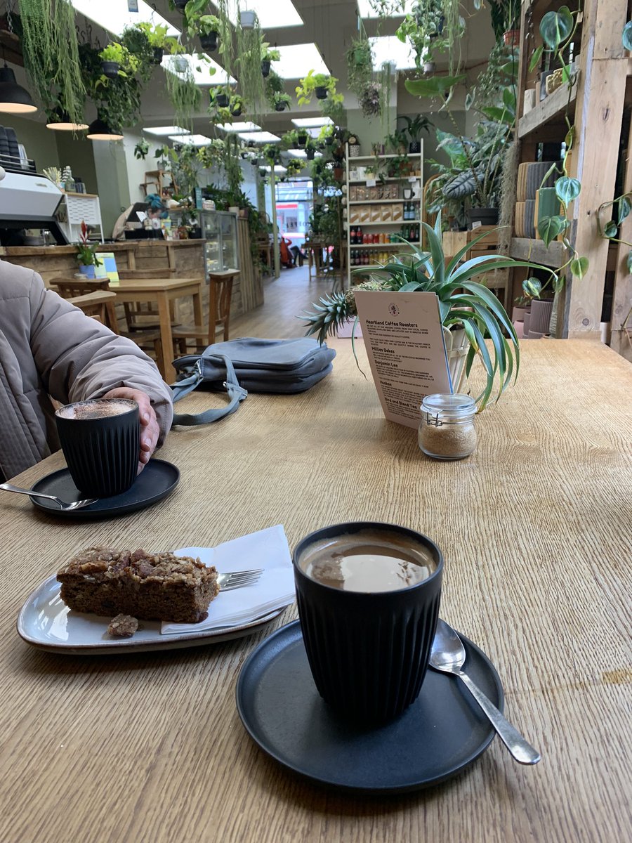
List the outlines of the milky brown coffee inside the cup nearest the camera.
{"label": "milky brown coffee inside the cup nearest the camera", "polygon": [[317,583],[362,593],[410,588],[437,570],[424,545],[371,529],[314,542],[299,566]]}

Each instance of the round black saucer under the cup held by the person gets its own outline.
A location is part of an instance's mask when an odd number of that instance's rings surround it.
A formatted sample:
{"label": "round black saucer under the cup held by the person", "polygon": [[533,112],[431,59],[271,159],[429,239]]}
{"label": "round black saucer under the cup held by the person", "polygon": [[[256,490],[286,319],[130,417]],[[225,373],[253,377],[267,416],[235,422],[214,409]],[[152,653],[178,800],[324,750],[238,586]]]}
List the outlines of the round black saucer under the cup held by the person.
{"label": "round black saucer under the cup held by the person", "polygon": [[[70,512],[60,509],[54,501],[47,501],[43,497],[31,497],[30,502],[34,507],[58,518],[112,518],[115,515],[126,515],[137,509],[151,507],[153,503],[174,491],[179,479],[179,469],[175,465],[164,459],[150,459],[131,489],[124,491],[122,495],[102,497],[88,507],[72,509]],[[56,495],[68,503],[79,501],[82,497],[67,469],[53,471],[52,474],[42,477],[31,487],[31,491]]]}

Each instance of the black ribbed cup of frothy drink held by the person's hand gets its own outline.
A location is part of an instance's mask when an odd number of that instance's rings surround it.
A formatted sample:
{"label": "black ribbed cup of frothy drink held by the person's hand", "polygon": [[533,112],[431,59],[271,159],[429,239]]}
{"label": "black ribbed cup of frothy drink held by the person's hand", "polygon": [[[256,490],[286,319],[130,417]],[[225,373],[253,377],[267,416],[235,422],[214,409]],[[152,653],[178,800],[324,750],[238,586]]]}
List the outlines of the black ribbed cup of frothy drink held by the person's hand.
{"label": "black ribbed cup of frothy drink held by the person's hand", "polygon": [[[126,409],[111,413],[118,405]],[[78,401],[61,407],[55,417],[72,482],[84,497],[113,497],[131,487],[141,450],[136,401]]]}

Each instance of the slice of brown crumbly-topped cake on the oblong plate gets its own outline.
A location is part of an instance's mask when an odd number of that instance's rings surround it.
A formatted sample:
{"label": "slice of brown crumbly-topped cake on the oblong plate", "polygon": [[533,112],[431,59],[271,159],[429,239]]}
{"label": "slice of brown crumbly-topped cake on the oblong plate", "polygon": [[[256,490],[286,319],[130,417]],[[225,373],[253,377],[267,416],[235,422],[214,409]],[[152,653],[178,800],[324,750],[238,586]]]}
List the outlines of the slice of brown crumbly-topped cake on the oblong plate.
{"label": "slice of brown crumbly-topped cake on the oblong plate", "polygon": [[76,612],[195,624],[217,597],[217,570],[191,556],[88,547],[57,574]]}

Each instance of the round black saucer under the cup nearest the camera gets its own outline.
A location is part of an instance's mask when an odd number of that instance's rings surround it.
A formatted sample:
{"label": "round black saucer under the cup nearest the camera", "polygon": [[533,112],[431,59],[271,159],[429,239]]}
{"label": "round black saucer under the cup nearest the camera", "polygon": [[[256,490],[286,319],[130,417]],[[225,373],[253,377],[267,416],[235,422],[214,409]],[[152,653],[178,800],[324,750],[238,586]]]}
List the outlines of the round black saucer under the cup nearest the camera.
{"label": "round black saucer under the cup nearest the camera", "polygon": [[[465,670],[499,709],[501,680],[461,636]],[[421,693],[394,722],[360,728],[330,711],[313,684],[298,620],[265,638],[244,663],[237,708],[260,748],[311,781],[355,793],[401,793],[470,765],[495,732],[455,676],[429,669]]]}

